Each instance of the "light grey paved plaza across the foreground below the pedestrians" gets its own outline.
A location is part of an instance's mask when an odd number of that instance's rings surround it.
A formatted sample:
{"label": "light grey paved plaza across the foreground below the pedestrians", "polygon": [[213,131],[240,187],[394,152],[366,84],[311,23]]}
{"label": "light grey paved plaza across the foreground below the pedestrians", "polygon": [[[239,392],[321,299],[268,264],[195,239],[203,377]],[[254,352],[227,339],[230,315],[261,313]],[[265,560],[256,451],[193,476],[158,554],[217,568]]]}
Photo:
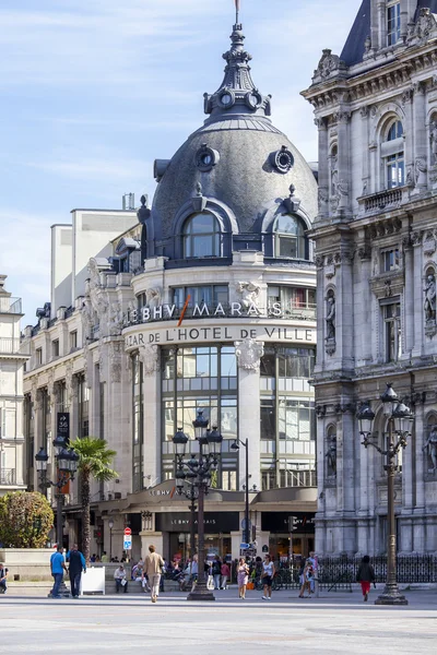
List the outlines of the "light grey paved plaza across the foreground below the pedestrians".
{"label": "light grey paved plaza across the foreground below the pedestrians", "polygon": [[[165,594],[51,600],[1,596],[0,653],[74,654],[141,652],[241,655],[281,648],[300,654],[383,655],[436,653],[437,592],[409,592],[408,607],[364,604],[358,592],[299,599],[295,592],[272,602],[251,592],[217,592],[211,604]],[[376,593],[374,592],[374,596]],[[371,598],[373,600],[374,598]],[[138,651],[139,652],[139,651]]]}

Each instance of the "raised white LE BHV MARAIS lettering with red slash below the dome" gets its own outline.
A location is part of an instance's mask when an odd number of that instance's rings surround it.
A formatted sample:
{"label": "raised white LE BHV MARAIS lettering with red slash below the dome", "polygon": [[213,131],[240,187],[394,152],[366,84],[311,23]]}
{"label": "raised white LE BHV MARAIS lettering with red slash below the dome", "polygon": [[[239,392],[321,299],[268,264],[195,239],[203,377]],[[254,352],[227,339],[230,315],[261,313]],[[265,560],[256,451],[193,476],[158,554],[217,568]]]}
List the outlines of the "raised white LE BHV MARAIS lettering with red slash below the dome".
{"label": "raised white LE BHV MARAIS lettering with red slash below the dome", "polygon": [[[304,311],[305,308],[302,308]],[[268,308],[258,307],[255,302],[231,302],[229,305],[206,305],[201,302],[193,307],[178,307],[177,305],[158,305],[157,307],[142,307],[125,313],[126,326],[152,321],[178,321],[179,319],[290,319],[290,302],[273,302]]]}

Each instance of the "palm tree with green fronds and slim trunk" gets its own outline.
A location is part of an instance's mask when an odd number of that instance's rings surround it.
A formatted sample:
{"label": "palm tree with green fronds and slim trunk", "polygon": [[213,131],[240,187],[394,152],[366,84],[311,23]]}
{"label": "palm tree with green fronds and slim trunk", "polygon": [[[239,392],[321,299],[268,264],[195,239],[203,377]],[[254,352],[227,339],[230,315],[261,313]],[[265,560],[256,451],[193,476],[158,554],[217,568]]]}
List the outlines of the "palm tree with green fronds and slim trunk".
{"label": "palm tree with green fronds and slim trunk", "polygon": [[116,451],[107,448],[105,439],[83,437],[71,443],[79,455],[78,472],[82,496],[82,549],[86,562],[90,561],[90,487],[91,479],[106,481],[118,477],[118,473],[109,468]]}

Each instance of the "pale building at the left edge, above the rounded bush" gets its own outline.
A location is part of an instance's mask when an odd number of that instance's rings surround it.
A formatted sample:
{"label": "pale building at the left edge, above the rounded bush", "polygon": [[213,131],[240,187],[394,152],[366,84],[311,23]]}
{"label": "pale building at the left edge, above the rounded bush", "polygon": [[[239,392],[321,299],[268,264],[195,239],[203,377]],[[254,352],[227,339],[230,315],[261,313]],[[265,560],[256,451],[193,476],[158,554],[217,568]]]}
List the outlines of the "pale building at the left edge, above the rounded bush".
{"label": "pale building at the left edge, above the rounded bush", "polygon": [[28,360],[21,343],[21,298],[4,288],[0,275],[0,496],[26,488],[23,434],[23,369]]}

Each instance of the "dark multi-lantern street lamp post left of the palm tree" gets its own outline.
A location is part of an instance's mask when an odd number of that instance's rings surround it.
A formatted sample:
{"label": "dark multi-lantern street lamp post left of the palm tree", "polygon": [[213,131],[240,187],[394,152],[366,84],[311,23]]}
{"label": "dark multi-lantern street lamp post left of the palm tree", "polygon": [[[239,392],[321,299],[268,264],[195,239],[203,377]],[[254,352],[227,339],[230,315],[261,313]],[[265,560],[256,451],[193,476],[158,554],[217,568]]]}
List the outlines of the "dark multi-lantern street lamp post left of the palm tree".
{"label": "dark multi-lantern street lamp post left of the palm tree", "polygon": [[[78,471],[79,455],[76,455],[72,448],[67,448],[66,440],[60,436],[56,437],[54,440],[54,449],[57,463],[56,481],[47,479],[48,454],[44,446],[42,446],[35,455],[35,462],[36,469],[39,473],[39,487],[42,489],[48,489],[49,487],[56,488],[56,540],[58,546],[62,546],[62,488],[69,480],[74,479],[74,475]],[[60,594],[68,595],[63,582]]]}

